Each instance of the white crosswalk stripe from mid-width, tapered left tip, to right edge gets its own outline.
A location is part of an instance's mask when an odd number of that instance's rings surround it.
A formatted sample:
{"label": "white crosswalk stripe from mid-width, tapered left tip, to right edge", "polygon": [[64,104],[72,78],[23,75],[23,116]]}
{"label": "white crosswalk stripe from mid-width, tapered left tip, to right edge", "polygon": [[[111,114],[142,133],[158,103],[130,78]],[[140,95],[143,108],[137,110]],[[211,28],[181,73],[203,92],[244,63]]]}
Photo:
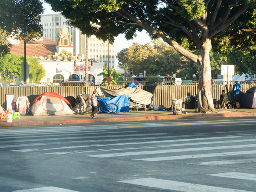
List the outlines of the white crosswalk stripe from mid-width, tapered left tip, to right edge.
{"label": "white crosswalk stripe from mid-width, tapered left tip, to right edge", "polygon": [[224,153],[190,154],[190,155],[180,155],[180,156],[171,156],[171,157],[142,158],[142,159],[134,159],[134,160],[166,161],[166,160],[178,160],[178,159],[195,159],[195,158],[204,158],[204,157],[221,157],[221,156],[241,155],[241,154],[256,154],[256,151],[235,151],[235,152],[224,152]]}

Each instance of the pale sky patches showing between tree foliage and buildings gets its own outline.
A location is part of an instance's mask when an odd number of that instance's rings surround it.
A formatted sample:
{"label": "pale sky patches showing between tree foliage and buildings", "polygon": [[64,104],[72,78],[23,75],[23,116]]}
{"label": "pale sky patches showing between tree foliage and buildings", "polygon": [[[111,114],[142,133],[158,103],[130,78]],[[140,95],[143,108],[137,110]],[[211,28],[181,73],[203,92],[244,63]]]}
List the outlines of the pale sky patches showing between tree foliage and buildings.
{"label": "pale sky patches showing between tree foliage and buildings", "polygon": [[[53,14],[54,12],[52,11],[52,8],[49,4],[44,3],[44,15],[47,14]],[[148,34],[146,34],[145,31],[143,32],[137,32],[137,37],[134,38],[133,40],[127,41],[125,39],[125,35],[121,34],[116,37],[115,39],[115,47],[116,47],[116,53],[120,52],[122,49],[130,47],[133,43],[138,43],[138,44],[147,44],[151,42],[151,39],[149,38]]]}

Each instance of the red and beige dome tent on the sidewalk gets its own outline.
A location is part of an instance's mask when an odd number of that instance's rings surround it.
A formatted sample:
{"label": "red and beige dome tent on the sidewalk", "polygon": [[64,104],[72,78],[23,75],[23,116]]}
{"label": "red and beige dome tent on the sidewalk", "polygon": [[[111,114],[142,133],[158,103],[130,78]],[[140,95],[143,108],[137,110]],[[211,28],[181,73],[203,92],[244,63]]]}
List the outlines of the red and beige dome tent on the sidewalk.
{"label": "red and beige dome tent on the sidewalk", "polygon": [[63,96],[53,92],[46,92],[35,98],[29,111],[34,116],[73,114],[68,105],[70,105],[70,102]]}

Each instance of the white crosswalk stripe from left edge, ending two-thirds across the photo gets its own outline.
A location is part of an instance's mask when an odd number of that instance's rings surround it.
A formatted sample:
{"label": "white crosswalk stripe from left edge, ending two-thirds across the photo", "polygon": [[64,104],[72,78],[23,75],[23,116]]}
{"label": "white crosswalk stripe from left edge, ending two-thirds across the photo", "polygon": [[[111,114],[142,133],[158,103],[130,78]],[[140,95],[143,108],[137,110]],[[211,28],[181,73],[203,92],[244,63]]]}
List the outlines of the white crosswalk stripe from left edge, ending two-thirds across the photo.
{"label": "white crosswalk stripe from left edge, ending two-thirds across the photo", "polygon": [[[141,137],[141,136],[153,136],[153,135],[167,135],[167,134],[166,133],[159,133],[159,134],[101,135],[101,136],[88,136],[88,137],[55,137],[55,138],[44,138],[44,139],[12,140],[12,142],[15,143],[15,142],[48,141],[48,140],[72,140],[72,139],[108,138],[108,137]],[[1,141],[1,143],[10,143],[10,141],[9,140],[8,141]]]}

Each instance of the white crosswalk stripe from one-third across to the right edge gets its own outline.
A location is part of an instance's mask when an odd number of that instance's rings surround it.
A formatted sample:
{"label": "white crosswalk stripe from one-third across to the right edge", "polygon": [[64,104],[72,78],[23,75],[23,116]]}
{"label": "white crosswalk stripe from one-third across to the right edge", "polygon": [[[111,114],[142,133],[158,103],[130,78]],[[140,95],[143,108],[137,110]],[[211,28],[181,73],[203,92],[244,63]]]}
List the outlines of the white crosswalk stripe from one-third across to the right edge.
{"label": "white crosswalk stripe from one-third across to the right edge", "polygon": [[256,147],[256,144],[251,144],[251,145],[248,145],[248,144],[247,145],[228,145],[228,146],[215,146],[215,147],[198,147],[198,148],[178,148],[178,149],[168,149],[168,150],[136,151],[136,152],[125,152],[125,153],[109,153],[109,154],[87,155],[86,157],[104,158],[104,157],[119,157],[119,156],[130,156],[130,155],[177,153],[177,152],[185,152],[185,151],[205,151],[205,150],[249,148],[249,147]]}

